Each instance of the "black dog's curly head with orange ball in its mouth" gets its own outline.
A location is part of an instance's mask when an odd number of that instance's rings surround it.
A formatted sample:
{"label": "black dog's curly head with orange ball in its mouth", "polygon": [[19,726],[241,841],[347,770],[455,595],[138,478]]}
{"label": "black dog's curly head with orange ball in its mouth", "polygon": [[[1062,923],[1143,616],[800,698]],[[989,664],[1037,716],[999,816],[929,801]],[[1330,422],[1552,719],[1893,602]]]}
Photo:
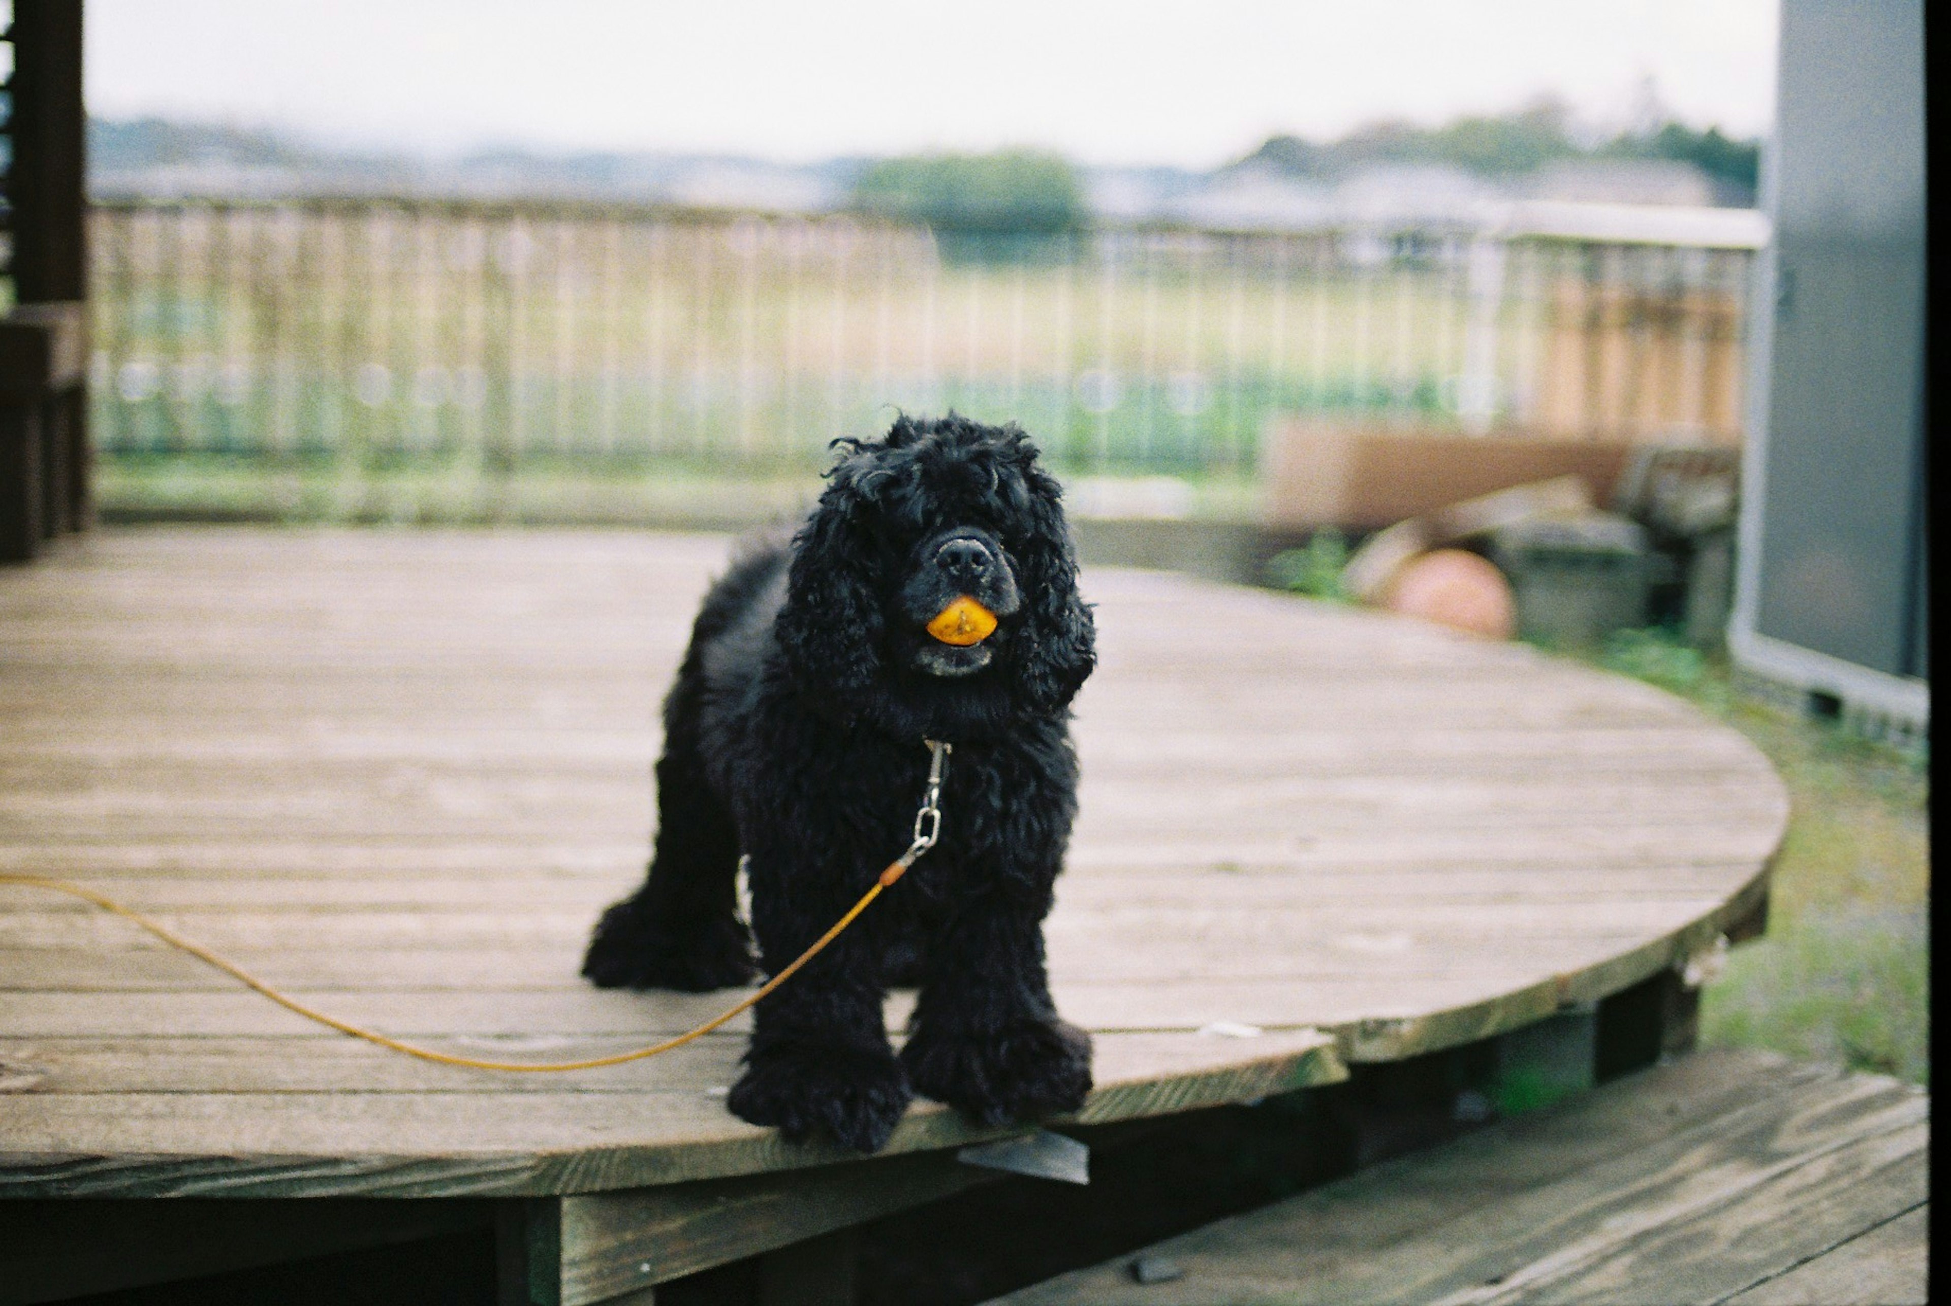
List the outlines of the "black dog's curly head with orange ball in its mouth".
{"label": "black dog's curly head with orange ball in its mouth", "polygon": [[1036,446],[954,413],[837,444],[778,614],[798,688],[839,715],[950,741],[1061,711],[1096,651]]}

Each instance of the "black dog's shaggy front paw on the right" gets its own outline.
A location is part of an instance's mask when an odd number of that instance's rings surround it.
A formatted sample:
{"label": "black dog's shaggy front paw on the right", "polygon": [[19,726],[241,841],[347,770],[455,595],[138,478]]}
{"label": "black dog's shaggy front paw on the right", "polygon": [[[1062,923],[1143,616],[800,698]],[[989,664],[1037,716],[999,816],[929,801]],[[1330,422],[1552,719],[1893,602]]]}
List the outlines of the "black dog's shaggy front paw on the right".
{"label": "black dog's shaggy front paw on the right", "polygon": [[983,1125],[1034,1121],[1085,1105],[1091,1035],[1061,1019],[1022,1019],[989,1033],[927,1029],[901,1049],[915,1092]]}

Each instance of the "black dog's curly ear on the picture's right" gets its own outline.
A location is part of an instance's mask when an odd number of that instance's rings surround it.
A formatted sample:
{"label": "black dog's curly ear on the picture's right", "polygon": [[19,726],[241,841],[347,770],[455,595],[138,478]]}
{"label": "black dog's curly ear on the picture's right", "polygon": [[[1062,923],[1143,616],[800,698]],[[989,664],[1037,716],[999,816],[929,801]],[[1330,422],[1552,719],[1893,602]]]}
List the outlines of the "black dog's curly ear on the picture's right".
{"label": "black dog's curly ear on the picture's right", "polygon": [[1032,466],[1024,468],[1024,483],[1030,530],[1015,550],[1024,596],[1016,678],[1036,711],[1057,711],[1096,667],[1096,624],[1077,593],[1077,554],[1057,481]]}

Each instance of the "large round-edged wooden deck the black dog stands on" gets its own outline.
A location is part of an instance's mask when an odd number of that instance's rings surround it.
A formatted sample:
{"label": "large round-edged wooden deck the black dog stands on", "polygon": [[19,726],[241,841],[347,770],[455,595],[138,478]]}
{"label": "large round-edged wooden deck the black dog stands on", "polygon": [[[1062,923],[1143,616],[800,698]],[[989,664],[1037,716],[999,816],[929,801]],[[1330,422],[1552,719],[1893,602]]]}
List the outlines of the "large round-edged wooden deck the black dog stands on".
{"label": "large round-edged wooden deck the black dog stands on", "polygon": [[[105,530],[0,571],[0,869],[439,1047],[554,1060],[689,1027],[726,996],[576,967],[642,873],[657,700],[724,552]],[[1102,667],[1048,926],[1057,1002],[1096,1035],[1085,1121],[1516,1029],[1682,967],[1764,899],[1783,787],[1674,698],[1165,573],[1085,589]],[[954,838],[952,778],[946,811]],[[0,887],[0,1197],[574,1195],[845,1160],[724,1109],[739,1051],[736,1025],[566,1076],[419,1064]],[[993,1133],[917,1103],[890,1152]]]}

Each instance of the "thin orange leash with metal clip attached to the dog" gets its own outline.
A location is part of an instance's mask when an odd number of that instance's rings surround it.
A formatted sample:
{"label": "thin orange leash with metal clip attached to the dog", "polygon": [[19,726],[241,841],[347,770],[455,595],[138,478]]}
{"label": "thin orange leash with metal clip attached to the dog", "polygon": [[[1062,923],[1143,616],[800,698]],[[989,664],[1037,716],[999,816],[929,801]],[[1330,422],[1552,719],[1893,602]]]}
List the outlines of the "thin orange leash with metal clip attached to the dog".
{"label": "thin orange leash with metal clip attached to the dog", "polygon": [[827,930],[817,940],[814,940],[812,947],[808,947],[804,953],[800,953],[790,965],[786,965],[784,969],[780,969],[780,973],[775,975],[773,979],[769,979],[757,992],[753,992],[751,996],[739,1000],[724,1016],[708,1019],[702,1025],[698,1025],[697,1029],[681,1033],[675,1039],[665,1039],[663,1043],[656,1043],[652,1047],[640,1047],[640,1049],[636,1049],[632,1053],[615,1053],[611,1056],[591,1056],[587,1060],[552,1060],[552,1062],[478,1060],[474,1056],[455,1056],[451,1053],[437,1053],[431,1047],[414,1047],[412,1043],[402,1043],[400,1039],[386,1037],[386,1035],[377,1033],[373,1029],[363,1029],[361,1025],[353,1025],[351,1021],[343,1021],[338,1016],[328,1016],[326,1012],[320,1012],[316,1008],[304,1006],[302,1002],[299,1002],[297,998],[293,998],[291,994],[281,992],[279,988],[263,982],[261,979],[258,979],[256,975],[252,975],[250,971],[246,971],[238,963],[230,961],[228,957],[222,957],[222,955],[211,951],[209,947],[205,947],[203,943],[197,943],[195,940],[183,938],[181,934],[178,934],[170,926],[162,924],[160,920],[152,920],[150,916],[144,916],[142,912],[139,912],[139,910],[135,910],[131,906],[123,906],[121,903],[117,903],[115,899],[111,899],[105,893],[96,893],[94,889],[88,889],[84,885],[76,885],[76,883],[70,883],[66,879],[51,879],[47,875],[10,875],[10,873],[0,873],[0,885],[23,885],[23,887],[29,887],[29,889],[49,889],[53,893],[66,893],[68,897],[82,899],[84,903],[94,903],[96,906],[100,906],[105,912],[113,912],[113,914],[117,914],[117,916],[121,916],[125,920],[133,920],[135,924],[142,926],[144,930],[148,930],[150,934],[154,934],[158,940],[162,940],[170,947],[185,951],[191,957],[195,957],[197,961],[213,965],[219,971],[222,971],[224,975],[228,975],[228,977],[244,982],[250,988],[256,988],[259,994],[263,994],[271,1002],[279,1004],[287,1012],[295,1012],[295,1014],[299,1014],[299,1016],[302,1016],[306,1019],[318,1021],[320,1025],[326,1025],[330,1029],[338,1029],[339,1033],[349,1033],[355,1039],[365,1039],[367,1043],[375,1043],[378,1047],[392,1049],[394,1053],[406,1053],[408,1056],[418,1056],[419,1060],[437,1060],[443,1066],[472,1066],[474,1070],[507,1070],[507,1072],[513,1072],[513,1074],[554,1074],[554,1072],[560,1072],[560,1070],[595,1070],[599,1066],[620,1066],[620,1064],[624,1064],[628,1060],[644,1060],[646,1056],[656,1056],[657,1053],[669,1053],[675,1047],[683,1047],[685,1043],[691,1043],[693,1039],[700,1039],[700,1037],[708,1035],[712,1029],[718,1029],[720,1025],[724,1025],[726,1021],[730,1021],[734,1016],[749,1012],[753,1006],[759,1004],[759,1000],[763,1000],[775,988],[778,988],[780,984],[784,984],[788,979],[792,979],[792,975],[800,967],[804,967],[808,961],[812,961],[814,957],[817,957],[821,953],[821,949],[825,949],[827,943],[831,943],[833,940],[837,940],[841,936],[841,932],[847,926],[851,926],[860,916],[860,912],[866,910],[868,903],[872,903],[874,899],[878,899],[882,895],[882,891],[888,889],[888,885],[892,885],[894,881],[901,879],[901,875],[907,873],[907,867],[911,867],[921,858],[921,854],[925,854],[929,848],[935,846],[935,840],[940,836],[940,828],[942,828],[942,809],[940,809],[938,803],[940,803],[940,793],[942,793],[942,758],[948,754],[948,745],[936,743],[936,741],[931,739],[929,741],[929,749],[933,750],[933,758],[929,762],[929,793],[927,793],[927,797],[921,803],[921,811],[915,813],[915,838],[913,838],[913,842],[907,846],[907,852],[903,852],[899,858],[896,858],[894,862],[888,864],[888,869],[880,873],[880,877],[874,881],[874,885],[864,895],[860,895],[860,901],[855,903],[847,910],[845,916],[841,916],[839,920],[833,922],[831,930]]}

